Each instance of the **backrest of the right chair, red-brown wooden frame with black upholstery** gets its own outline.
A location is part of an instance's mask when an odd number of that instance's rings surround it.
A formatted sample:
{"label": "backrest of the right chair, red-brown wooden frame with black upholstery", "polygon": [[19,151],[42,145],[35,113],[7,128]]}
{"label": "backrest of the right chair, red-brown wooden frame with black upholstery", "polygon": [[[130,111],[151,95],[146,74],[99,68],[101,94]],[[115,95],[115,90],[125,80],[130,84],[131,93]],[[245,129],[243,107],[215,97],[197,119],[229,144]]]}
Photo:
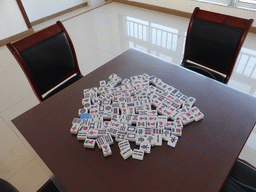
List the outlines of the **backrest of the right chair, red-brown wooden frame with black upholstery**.
{"label": "backrest of the right chair, red-brown wooden frame with black upholstery", "polygon": [[193,61],[220,72],[226,75],[226,83],[252,22],[253,19],[241,19],[196,7],[188,26],[183,63]]}

